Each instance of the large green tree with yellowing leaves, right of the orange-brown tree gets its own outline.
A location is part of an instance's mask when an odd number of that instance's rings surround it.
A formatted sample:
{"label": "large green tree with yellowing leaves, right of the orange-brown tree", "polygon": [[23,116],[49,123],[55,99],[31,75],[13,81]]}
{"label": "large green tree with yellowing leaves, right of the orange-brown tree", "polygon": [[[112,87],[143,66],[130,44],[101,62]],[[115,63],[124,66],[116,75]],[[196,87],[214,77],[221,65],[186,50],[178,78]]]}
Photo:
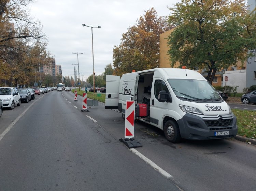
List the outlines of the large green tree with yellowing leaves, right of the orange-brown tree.
{"label": "large green tree with yellowing leaves, right of the orange-brown tree", "polygon": [[170,8],[169,22],[176,28],[168,37],[171,66],[209,68],[216,71],[242,63],[256,47],[255,14],[248,14],[245,0],[182,0]]}

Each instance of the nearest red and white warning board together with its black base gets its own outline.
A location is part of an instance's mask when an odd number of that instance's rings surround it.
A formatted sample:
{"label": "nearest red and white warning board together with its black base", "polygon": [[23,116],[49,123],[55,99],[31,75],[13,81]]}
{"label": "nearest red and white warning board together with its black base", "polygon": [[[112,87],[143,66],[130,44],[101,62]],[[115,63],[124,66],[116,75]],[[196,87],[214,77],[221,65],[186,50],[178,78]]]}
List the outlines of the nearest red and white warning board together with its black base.
{"label": "nearest red and white warning board together with its black base", "polygon": [[128,148],[142,147],[134,138],[135,101],[126,101],[125,108],[125,139],[119,139]]}

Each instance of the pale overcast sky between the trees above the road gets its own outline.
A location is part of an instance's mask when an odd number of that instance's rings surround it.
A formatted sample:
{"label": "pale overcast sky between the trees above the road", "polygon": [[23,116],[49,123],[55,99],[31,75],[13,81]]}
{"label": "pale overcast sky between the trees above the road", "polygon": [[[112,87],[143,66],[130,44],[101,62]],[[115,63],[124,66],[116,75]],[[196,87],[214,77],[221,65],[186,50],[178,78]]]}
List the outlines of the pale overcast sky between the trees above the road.
{"label": "pale overcast sky between the trees above the road", "polygon": [[[49,39],[48,51],[56,64],[62,65],[63,76],[74,76],[79,54],[79,73],[83,80],[93,73],[91,28],[93,28],[95,75],[113,63],[113,48],[120,45],[122,34],[151,7],[157,16],[168,16],[179,0],[37,0],[30,5],[31,16],[43,25]],[[77,65],[76,65],[77,69]],[[82,74],[81,74],[82,73]]]}

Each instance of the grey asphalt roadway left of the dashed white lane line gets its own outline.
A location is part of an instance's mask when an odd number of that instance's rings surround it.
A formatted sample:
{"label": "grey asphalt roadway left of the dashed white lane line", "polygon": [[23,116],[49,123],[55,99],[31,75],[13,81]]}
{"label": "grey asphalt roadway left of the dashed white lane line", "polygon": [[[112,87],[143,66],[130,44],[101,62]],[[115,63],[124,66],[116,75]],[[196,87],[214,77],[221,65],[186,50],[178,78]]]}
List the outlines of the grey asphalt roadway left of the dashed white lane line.
{"label": "grey asphalt roadway left of the dashed white lane line", "polygon": [[62,92],[39,97],[3,112],[1,133],[11,128],[0,135],[0,190],[179,190]]}

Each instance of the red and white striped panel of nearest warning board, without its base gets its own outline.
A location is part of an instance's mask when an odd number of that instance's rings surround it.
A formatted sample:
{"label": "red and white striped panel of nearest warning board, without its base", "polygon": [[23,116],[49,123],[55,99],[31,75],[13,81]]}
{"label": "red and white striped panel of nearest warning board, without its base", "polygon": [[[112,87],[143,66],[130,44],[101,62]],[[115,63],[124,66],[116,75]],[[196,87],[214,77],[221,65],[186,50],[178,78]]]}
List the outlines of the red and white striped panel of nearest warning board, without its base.
{"label": "red and white striped panel of nearest warning board, without its base", "polygon": [[126,101],[125,108],[125,138],[134,137],[135,101]]}

